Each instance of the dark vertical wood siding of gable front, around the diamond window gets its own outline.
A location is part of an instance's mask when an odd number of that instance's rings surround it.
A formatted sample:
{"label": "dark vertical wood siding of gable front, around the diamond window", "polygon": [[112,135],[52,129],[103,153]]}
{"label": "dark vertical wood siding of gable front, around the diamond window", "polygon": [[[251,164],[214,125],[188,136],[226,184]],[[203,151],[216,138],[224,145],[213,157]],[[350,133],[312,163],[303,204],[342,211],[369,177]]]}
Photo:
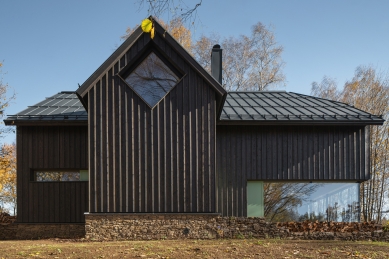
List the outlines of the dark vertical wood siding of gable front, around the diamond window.
{"label": "dark vertical wood siding of gable front, around the diamond window", "polygon": [[153,109],[116,76],[145,34],[88,93],[90,212],[215,212],[215,92],[159,35],[184,72]]}

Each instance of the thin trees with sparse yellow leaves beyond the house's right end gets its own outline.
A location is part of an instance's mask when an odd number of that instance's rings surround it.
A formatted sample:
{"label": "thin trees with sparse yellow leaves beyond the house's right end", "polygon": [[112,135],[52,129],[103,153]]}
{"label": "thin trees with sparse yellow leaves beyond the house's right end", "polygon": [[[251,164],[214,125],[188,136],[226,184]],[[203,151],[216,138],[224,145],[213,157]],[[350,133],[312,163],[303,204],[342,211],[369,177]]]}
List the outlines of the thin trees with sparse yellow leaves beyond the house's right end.
{"label": "thin trees with sparse yellow leaves beyond the house's right end", "polygon": [[386,119],[383,126],[370,127],[370,171],[371,179],[361,188],[362,220],[381,222],[382,208],[388,193],[389,152],[389,76],[378,73],[371,66],[360,66],[354,78],[339,91],[333,79],[324,77],[321,83],[312,84],[313,95],[348,103],[358,109]]}

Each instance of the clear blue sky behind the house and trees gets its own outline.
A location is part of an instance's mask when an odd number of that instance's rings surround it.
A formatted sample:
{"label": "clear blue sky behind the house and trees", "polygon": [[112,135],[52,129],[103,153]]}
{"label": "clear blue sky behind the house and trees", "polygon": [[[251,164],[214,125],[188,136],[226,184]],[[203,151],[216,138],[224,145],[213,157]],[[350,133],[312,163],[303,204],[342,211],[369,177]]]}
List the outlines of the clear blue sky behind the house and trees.
{"label": "clear blue sky behind the house and trees", "polygon": [[[17,93],[5,114],[76,90],[121,44],[126,28],[148,16],[137,2],[0,0],[3,82]],[[258,21],[272,25],[284,47],[282,90],[309,94],[324,75],[343,85],[359,65],[389,70],[388,13],[389,1],[203,0],[192,33],[238,36]]]}

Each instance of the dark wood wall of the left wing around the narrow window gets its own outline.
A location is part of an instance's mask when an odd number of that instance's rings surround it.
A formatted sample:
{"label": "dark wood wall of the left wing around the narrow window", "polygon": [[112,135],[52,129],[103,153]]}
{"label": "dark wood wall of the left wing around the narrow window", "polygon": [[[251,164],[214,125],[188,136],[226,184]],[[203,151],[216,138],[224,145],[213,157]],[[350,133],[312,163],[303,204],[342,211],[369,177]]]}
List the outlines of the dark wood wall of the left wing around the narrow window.
{"label": "dark wood wall of the left wing around the narrow window", "polygon": [[88,182],[34,182],[35,169],[87,169],[86,126],[17,127],[17,222],[85,222]]}

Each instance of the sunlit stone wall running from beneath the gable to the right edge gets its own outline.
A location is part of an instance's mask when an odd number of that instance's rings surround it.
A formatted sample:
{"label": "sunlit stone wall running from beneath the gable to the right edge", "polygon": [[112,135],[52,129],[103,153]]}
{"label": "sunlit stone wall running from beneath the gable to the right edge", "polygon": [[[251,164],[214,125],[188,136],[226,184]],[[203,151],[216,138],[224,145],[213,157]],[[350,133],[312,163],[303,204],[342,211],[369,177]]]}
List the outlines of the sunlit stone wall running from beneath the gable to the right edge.
{"label": "sunlit stone wall running from beneath the gable to the right edge", "polygon": [[[303,228],[306,222],[294,222],[291,227],[266,222],[264,218],[217,214],[87,214],[85,218],[87,240],[281,238],[389,242],[389,232],[374,223],[330,222],[321,223],[322,228],[312,223],[309,229]],[[350,225],[353,227],[346,227]]]}

